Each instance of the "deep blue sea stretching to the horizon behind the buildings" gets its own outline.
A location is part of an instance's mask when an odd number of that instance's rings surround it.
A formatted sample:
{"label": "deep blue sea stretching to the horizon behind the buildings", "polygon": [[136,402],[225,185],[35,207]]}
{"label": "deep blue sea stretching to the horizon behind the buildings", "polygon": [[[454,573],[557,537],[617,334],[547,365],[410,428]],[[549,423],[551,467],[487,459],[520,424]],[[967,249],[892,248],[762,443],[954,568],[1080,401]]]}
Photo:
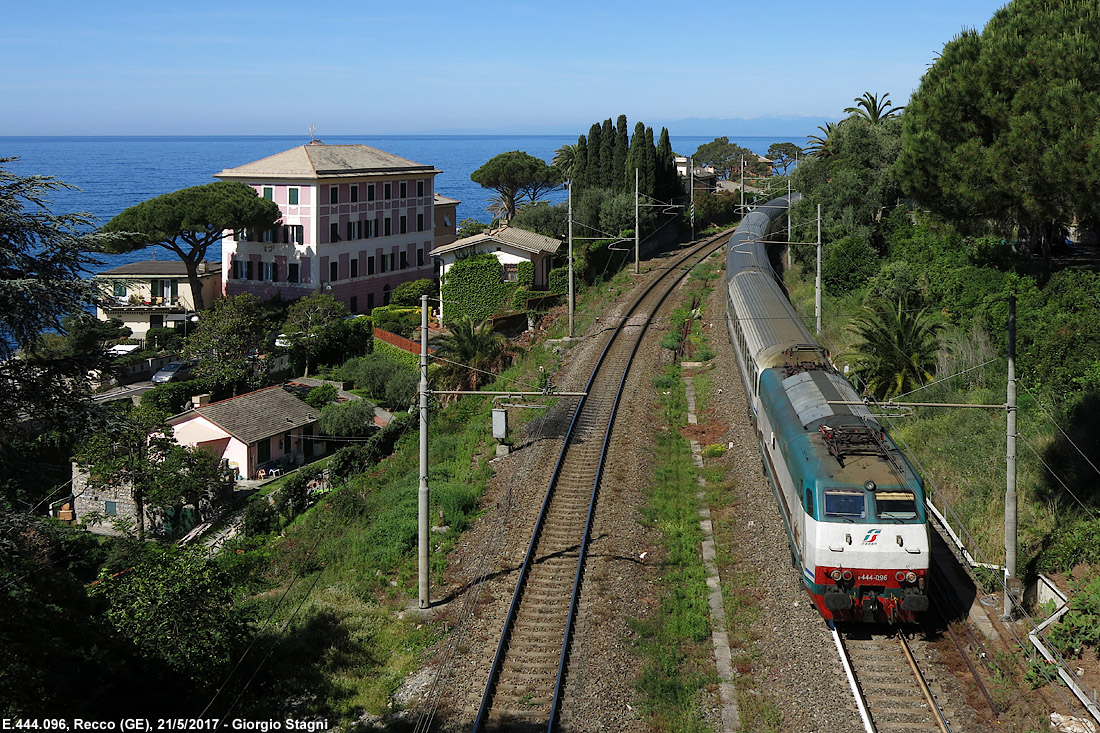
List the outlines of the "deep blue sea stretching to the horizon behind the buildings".
{"label": "deep blue sea stretching to the horizon behind the buildings", "polygon": [[[582,131],[584,132],[584,131]],[[671,131],[670,131],[671,132]],[[579,133],[580,134],[580,133]],[[324,135],[328,144],[364,144],[402,157],[433,165],[436,192],[461,201],[459,221],[473,218],[490,221],[486,207],[492,192],[470,179],[470,174],[499,153],[521,150],[550,162],[554,151],[575,143],[578,135]],[[713,136],[671,135],[672,149],[691,155]],[[805,138],[729,138],[761,155],[776,142],[805,146]],[[123,209],[150,198],[188,186],[217,180],[224,168],[258,161],[309,142],[304,135],[180,135],[180,136],[0,136],[0,158],[16,175],[52,176],[74,188],[51,196],[54,214],[84,212],[97,226],[107,223]],[[564,190],[552,192],[551,203],[565,200]],[[141,260],[170,258],[161,248],[147,248],[117,255],[97,255],[92,273]],[[221,259],[216,244],[208,260]]]}

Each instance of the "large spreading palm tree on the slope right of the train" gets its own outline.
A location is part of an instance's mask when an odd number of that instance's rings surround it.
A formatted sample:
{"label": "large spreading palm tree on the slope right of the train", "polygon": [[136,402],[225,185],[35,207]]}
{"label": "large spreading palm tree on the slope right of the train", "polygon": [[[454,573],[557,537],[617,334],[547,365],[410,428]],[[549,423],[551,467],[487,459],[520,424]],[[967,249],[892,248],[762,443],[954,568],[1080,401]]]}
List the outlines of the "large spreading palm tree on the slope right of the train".
{"label": "large spreading palm tree on the slope right of the train", "polygon": [[911,310],[878,298],[853,321],[860,338],[855,373],[868,392],[889,400],[932,380],[944,325],[927,308]]}

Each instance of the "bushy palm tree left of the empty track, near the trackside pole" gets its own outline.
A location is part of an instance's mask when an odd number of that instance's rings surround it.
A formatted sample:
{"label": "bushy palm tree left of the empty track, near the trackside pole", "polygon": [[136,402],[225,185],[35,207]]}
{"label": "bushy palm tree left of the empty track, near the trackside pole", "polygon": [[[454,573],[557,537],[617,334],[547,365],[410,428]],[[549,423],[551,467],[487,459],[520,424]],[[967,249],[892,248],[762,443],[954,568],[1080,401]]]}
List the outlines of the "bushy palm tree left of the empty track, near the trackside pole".
{"label": "bushy palm tree left of the empty track, near the trackside pole", "polygon": [[515,347],[487,321],[479,325],[463,316],[436,342],[437,382],[452,390],[479,390],[507,369],[515,353]]}

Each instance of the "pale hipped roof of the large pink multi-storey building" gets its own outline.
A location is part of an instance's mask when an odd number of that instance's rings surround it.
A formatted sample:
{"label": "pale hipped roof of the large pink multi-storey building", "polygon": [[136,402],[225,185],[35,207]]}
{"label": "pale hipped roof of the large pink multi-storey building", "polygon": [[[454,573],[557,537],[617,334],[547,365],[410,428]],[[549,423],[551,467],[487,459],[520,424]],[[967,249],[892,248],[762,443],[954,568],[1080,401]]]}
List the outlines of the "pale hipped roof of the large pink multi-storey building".
{"label": "pale hipped roof of the large pink multi-storey building", "polygon": [[371,175],[436,174],[431,165],[367,145],[298,145],[253,163],[216,173],[216,178],[354,178]]}

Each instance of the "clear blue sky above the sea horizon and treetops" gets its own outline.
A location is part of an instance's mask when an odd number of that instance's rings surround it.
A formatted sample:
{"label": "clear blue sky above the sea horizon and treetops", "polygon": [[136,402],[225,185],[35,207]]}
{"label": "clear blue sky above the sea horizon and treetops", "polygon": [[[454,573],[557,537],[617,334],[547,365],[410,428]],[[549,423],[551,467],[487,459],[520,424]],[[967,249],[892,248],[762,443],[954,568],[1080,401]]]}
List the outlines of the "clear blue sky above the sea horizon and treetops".
{"label": "clear blue sky above the sea horizon and treetops", "polygon": [[[944,43],[1002,4],[12,2],[0,135],[573,133],[620,113],[675,134],[684,118],[835,120],[864,91],[903,105]],[[809,134],[818,122],[806,122],[769,124]]]}

